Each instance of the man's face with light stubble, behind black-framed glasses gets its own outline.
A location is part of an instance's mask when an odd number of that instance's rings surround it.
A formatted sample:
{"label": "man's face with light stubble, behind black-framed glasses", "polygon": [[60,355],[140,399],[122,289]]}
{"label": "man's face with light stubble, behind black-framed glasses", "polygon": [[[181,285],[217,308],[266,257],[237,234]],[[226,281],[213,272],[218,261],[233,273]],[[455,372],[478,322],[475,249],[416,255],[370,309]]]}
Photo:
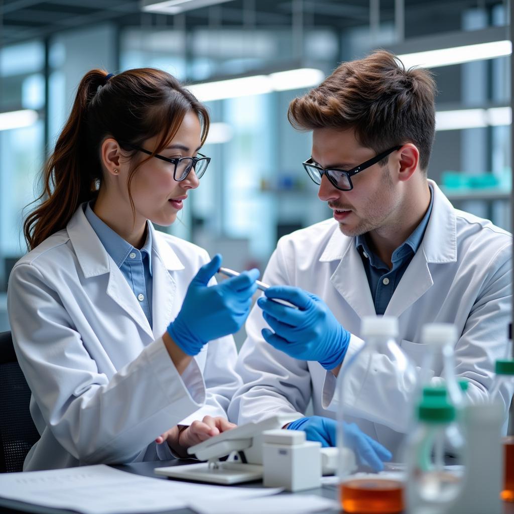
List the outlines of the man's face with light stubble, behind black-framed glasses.
{"label": "man's face with light stubble, behind black-framed glasses", "polygon": [[[351,170],[375,157],[376,152],[362,146],[353,130],[315,128],[312,158],[322,168]],[[334,211],[334,219],[344,235],[353,237],[377,228],[394,224],[399,195],[395,193],[397,181],[394,170],[399,166],[394,154],[385,167],[379,163],[351,177],[353,189],[340,191],[323,175],[318,197]]]}

